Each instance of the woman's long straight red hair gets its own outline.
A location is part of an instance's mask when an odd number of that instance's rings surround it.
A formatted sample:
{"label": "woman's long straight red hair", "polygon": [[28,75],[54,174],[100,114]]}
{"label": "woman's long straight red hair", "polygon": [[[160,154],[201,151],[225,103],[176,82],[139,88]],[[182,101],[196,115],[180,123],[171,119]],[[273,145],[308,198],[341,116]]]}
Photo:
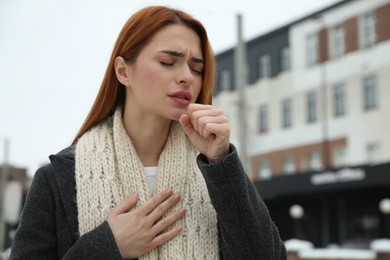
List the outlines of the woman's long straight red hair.
{"label": "woman's long straight red hair", "polygon": [[177,9],[164,6],[146,7],[131,16],[119,33],[95,102],[73,143],[125,103],[125,88],[115,74],[115,58],[121,56],[126,61],[134,63],[150,39],[162,27],[171,24],[183,24],[198,34],[203,52],[204,72],[202,88],[196,102],[211,104],[215,81],[215,57],[204,26],[191,15]]}

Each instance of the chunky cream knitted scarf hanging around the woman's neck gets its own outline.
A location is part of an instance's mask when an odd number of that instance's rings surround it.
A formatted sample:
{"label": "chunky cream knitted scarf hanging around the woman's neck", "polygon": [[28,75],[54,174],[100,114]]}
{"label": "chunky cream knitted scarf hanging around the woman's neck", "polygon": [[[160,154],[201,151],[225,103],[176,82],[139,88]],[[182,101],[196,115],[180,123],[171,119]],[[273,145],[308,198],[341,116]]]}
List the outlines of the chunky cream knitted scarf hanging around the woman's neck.
{"label": "chunky cream knitted scarf hanging around the woman's neck", "polygon": [[[197,152],[178,122],[159,158],[155,192],[172,188],[187,212],[174,239],[139,259],[219,259],[217,217],[196,164]],[[122,123],[122,111],[86,132],[76,146],[76,188],[80,235],[96,228],[112,208],[133,193],[140,207],[150,199],[143,165]]]}

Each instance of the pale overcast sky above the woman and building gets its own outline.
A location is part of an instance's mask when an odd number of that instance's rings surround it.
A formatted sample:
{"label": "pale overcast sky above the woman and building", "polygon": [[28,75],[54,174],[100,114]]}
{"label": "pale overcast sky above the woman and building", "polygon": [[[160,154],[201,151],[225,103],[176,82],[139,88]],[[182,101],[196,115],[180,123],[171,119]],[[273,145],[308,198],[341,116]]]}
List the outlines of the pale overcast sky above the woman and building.
{"label": "pale overcast sky above the woman and building", "polygon": [[0,163],[29,175],[67,147],[100,87],[131,14],[168,5],[203,22],[214,52],[236,43],[236,15],[253,39],[339,0],[0,0]]}

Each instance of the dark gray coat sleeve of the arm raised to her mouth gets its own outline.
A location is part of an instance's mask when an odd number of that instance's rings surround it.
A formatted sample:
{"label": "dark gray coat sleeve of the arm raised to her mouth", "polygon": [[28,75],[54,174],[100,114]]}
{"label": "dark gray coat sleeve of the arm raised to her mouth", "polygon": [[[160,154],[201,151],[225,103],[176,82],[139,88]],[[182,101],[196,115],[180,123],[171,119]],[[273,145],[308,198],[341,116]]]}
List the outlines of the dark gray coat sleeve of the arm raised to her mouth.
{"label": "dark gray coat sleeve of the arm raised to her mouth", "polygon": [[198,156],[210,199],[217,212],[221,257],[286,259],[286,249],[268,209],[247,177],[233,145],[231,153],[208,163]]}

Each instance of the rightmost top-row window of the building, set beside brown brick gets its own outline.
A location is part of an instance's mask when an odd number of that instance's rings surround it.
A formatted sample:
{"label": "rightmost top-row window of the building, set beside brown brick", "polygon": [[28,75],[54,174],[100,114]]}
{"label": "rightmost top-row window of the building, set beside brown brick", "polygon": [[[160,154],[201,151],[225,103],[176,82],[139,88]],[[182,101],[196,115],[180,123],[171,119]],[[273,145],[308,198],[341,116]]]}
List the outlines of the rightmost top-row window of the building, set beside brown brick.
{"label": "rightmost top-row window of the building, set beside brown brick", "polygon": [[365,13],[359,20],[360,48],[369,48],[375,44],[375,14],[374,12]]}

